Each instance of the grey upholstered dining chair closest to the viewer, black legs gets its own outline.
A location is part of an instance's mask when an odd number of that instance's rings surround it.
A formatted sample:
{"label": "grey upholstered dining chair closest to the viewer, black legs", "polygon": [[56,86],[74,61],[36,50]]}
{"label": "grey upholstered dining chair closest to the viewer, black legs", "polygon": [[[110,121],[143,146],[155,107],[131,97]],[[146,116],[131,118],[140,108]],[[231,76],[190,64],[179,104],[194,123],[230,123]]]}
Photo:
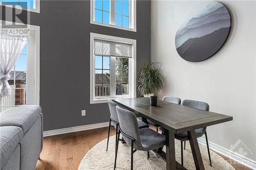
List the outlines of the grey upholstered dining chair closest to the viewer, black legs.
{"label": "grey upholstered dining chair closest to the viewer, black legs", "polygon": [[[119,119],[119,132],[117,139],[119,139],[120,133],[124,141],[131,147],[131,169],[133,169],[133,154],[139,151],[147,151],[147,159],[149,158],[149,151],[156,150],[165,145],[165,136],[157,133],[150,128],[139,129],[137,118],[135,114],[129,110],[125,110],[116,107],[118,119]],[[117,160],[118,142],[115,153],[115,165]]]}

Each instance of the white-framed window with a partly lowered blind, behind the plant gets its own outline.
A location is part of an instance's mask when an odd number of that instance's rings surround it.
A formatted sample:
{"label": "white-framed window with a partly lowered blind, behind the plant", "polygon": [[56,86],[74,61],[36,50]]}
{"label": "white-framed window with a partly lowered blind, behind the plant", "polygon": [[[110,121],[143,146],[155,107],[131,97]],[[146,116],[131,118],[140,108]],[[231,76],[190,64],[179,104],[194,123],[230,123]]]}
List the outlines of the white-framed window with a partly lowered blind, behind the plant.
{"label": "white-framed window with a partly lowered blind, behind the plant", "polygon": [[91,33],[91,103],[136,95],[136,40]]}

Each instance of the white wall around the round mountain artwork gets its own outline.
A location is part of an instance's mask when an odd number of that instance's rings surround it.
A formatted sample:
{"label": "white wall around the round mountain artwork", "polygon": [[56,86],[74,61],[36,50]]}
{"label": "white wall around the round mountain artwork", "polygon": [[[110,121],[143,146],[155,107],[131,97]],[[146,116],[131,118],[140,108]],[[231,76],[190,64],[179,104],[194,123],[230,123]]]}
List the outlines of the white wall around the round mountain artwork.
{"label": "white wall around the round mountain artwork", "polygon": [[152,55],[160,62],[164,88],[159,93],[205,101],[210,111],[233,116],[233,121],[207,129],[209,141],[230,149],[241,139],[256,160],[256,3],[222,1],[232,13],[228,41],[214,57],[202,62],[183,60],[175,48],[182,18],[202,1],[152,1]]}

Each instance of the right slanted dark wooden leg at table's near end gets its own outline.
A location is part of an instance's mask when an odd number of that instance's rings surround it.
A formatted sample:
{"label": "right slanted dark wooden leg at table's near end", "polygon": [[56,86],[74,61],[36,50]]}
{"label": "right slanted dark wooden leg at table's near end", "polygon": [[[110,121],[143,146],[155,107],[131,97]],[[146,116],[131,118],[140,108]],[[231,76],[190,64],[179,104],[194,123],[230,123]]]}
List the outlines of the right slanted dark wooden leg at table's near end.
{"label": "right slanted dark wooden leg at table's near end", "polygon": [[191,151],[194,157],[196,168],[199,170],[204,170],[204,164],[203,164],[202,156],[200,153],[195,130],[188,131],[187,135],[188,135],[188,139],[189,139]]}

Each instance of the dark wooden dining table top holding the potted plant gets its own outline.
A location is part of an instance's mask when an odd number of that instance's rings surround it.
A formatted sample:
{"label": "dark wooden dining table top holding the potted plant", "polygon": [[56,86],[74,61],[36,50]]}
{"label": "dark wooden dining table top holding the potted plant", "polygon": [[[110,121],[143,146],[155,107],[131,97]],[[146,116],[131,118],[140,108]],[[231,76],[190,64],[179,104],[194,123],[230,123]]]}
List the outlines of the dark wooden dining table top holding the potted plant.
{"label": "dark wooden dining table top holding the potted plant", "polygon": [[150,119],[175,133],[216,125],[233,119],[233,117],[228,115],[160,100],[157,102],[158,106],[151,106],[150,98],[125,98],[114,99],[113,101],[131,110],[136,115]]}

